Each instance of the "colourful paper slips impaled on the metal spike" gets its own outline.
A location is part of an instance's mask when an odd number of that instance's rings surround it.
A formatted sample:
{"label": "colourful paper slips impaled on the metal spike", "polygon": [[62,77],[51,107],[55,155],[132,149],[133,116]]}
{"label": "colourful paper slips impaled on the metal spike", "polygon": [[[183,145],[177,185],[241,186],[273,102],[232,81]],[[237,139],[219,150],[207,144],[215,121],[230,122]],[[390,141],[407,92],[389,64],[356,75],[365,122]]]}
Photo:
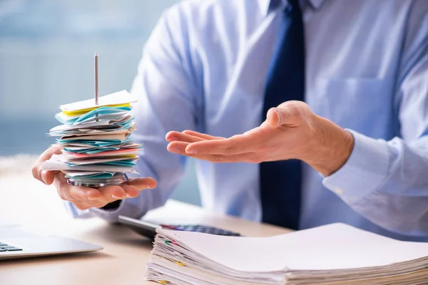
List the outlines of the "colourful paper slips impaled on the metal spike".
{"label": "colourful paper slips impaled on the metal spike", "polygon": [[42,165],[43,170],[61,170],[74,181],[110,180],[133,170],[141,144],[133,142],[136,130],[131,103],[136,99],[126,90],[95,100],[61,105],[55,115],[58,125],[49,135],[58,137],[61,155]]}

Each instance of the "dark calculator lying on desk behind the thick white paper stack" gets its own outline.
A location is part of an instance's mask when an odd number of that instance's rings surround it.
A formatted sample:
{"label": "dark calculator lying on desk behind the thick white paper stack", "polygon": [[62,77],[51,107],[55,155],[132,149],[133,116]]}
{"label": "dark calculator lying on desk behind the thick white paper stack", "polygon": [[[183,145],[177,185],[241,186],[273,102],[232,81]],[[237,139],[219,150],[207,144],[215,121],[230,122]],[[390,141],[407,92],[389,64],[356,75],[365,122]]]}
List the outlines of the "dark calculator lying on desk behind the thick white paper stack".
{"label": "dark calculator lying on desk behind the thick white paper stack", "polygon": [[154,224],[141,219],[133,219],[126,216],[119,216],[118,222],[133,229],[134,232],[141,234],[149,239],[155,239],[156,229],[173,229],[176,231],[203,232],[205,234],[217,234],[220,236],[241,237],[238,232],[231,232],[226,229],[210,227],[203,224]]}

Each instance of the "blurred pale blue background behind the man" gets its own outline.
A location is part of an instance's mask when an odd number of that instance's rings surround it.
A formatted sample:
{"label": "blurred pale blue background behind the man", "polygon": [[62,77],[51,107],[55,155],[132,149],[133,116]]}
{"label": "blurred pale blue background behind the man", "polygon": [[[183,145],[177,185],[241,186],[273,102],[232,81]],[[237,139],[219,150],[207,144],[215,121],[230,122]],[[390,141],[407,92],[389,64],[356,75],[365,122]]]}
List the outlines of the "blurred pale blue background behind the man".
{"label": "blurred pale blue background behind the man", "polygon": [[[129,90],[143,45],[175,0],[0,0],[0,160],[53,142],[58,105]],[[193,161],[173,198],[200,204]]]}

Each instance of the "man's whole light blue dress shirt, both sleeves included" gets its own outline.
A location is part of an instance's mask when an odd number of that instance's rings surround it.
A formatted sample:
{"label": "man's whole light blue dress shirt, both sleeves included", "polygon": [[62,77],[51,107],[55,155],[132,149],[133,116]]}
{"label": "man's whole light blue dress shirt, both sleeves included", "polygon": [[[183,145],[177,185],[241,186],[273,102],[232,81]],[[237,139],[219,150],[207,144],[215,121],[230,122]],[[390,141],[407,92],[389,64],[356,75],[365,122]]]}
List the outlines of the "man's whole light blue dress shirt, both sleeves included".
{"label": "man's whole light blue dress shirt, both sleeves included", "polygon": [[[428,1],[301,1],[310,108],[350,130],[355,146],[322,177],[305,165],[300,228],[345,222],[401,239],[428,240]],[[138,95],[138,172],[158,181],[114,211],[141,217],[183,176],[166,150],[170,130],[229,137],[260,125],[267,68],[286,1],[189,0],[163,14],[146,43]],[[261,220],[259,166],[198,161],[210,211]],[[286,189],[284,191],[287,191]]]}

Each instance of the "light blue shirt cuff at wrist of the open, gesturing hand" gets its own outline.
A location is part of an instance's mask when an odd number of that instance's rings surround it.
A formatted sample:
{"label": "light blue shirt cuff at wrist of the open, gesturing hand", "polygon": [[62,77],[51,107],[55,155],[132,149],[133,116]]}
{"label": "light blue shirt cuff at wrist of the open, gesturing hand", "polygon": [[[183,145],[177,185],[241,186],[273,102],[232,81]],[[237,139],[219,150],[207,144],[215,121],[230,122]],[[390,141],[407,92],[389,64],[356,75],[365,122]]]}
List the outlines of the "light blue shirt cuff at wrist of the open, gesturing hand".
{"label": "light blue shirt cuff at wrist of the open, gesturing hand", "polygon": [[354,147],[345,165],[322,184],[347,204],[355,204],[377,190],[387,178],[389,152],[385,140],[366,137],[353,130]]}

